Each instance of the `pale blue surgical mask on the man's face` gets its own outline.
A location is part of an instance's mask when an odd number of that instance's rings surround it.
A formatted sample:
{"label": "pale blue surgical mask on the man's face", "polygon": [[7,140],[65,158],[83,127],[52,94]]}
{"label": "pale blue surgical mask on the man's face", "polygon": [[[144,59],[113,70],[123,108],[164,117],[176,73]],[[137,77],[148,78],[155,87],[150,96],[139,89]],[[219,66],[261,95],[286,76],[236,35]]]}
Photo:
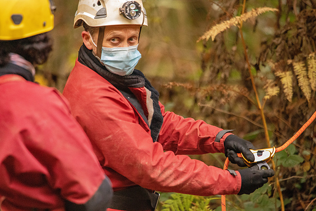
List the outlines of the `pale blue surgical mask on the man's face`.
{"label": "pale blue surgical mask on the man's face", "polygon": [[[90,35],[91,37],[91,35]],[[97,45],[93,42],[95,47]],[[141,58],[138,45],[124,48],[102,47],[101,58],[98,58],[110,72],[117,75],[130,75]]]}

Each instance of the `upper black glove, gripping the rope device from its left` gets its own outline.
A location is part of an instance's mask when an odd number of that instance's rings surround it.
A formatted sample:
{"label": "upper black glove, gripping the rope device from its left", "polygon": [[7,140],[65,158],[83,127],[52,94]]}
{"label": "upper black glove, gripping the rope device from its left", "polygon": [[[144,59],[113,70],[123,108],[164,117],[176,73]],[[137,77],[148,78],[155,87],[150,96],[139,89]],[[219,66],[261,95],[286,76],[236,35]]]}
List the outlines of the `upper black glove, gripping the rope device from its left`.
{"label": "upper black glove, gripping the rope device from its left", "polygon": [[235,135],[229,135],[224,141],[225,155],[228,157],[231,163],[237,164],[241,167],[246,167],[247,165],[237,156],[237,153],[243,153],[244,157],[250,161],[255,161],[254,155],[249,149],[255,149],[251,142],[239,138]]}

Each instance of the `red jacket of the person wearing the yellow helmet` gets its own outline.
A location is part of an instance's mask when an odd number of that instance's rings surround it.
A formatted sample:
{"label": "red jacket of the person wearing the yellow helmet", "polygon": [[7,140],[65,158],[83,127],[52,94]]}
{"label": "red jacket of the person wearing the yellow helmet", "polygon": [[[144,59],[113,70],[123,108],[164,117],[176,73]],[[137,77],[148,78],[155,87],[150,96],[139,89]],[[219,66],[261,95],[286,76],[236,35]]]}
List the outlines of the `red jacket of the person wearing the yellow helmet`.
{"label": "red jacket of the person wearing the yellow helmet", "polygon": [[85,204],[104,179],[57,90],[0,77],[0,210],[62,209],[64,199]]}

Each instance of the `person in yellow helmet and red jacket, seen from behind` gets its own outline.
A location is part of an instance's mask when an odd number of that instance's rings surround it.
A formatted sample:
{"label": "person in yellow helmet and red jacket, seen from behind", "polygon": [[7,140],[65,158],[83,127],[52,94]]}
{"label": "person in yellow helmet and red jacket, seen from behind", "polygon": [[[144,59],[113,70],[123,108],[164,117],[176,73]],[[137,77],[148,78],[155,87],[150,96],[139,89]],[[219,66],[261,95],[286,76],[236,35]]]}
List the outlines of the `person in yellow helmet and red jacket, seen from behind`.
{"label": "person in yellow helmet and red jacket, seen from behind", "polygon": [[34,83],[54,10],[52,0],[0,0],[1,211],[105,211],[113,194],[67,100]]}

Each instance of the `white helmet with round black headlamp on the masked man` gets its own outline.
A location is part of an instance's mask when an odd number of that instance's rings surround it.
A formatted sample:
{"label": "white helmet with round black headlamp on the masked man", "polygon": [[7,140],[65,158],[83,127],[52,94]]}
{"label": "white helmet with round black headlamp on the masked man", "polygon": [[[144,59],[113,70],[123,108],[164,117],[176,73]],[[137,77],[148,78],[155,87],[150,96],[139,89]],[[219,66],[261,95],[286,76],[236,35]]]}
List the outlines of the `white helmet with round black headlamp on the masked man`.
{"label": "white helmet with round black headlamp on the masked man", "polygon": [[83,21],[92,27],[147,26],[147,15],[142,0],[79,0],[74,28],[82,26]]}

